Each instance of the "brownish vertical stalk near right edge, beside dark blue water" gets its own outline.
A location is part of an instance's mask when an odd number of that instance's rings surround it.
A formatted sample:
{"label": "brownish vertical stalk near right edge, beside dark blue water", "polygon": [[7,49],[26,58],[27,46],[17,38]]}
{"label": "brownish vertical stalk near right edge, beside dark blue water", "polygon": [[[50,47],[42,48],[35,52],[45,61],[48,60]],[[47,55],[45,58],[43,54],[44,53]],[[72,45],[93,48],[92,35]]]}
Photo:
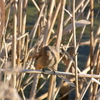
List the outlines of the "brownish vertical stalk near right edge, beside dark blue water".
{"label": "brownish vertical stalk near right edge, beside dark blue water", "polygon": [[[94,52],[94,35],[93,35],[93,24],[94,24],[94,0],[90,0],[90,67],[91,74],[93,74],[93,52]],[[89,100],[92,100],[93,84],[90,85],[90,96]]]}

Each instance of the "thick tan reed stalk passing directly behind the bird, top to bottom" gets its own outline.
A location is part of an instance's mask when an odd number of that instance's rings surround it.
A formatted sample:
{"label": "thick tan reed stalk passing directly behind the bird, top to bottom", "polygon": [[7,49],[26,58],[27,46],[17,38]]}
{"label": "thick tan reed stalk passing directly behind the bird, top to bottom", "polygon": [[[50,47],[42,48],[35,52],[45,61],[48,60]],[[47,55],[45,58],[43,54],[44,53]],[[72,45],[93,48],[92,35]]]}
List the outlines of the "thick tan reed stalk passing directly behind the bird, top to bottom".
{"label": "thick tan reed stalk passing directly behind the bird, top to bottom", "polygon": [[[59,26],[58,26],[58,35],[57,35],[57,43],[56,43],[56,50],[59,53],[60,52],[60,44],[61,44],[61,40],[62,40],[62,33],[63,33],[63,22],[64,22],[64,8],[65,8],[65,4],[66,1],[63,0],[61,3],[61,11],[60,11],[60,18],[59,18]],[[59,59],[59,58],[57,58]],[[54,69],[57,70],[58,65],[54,66]],[[56,96],[55,95],[55,81],[56,81],[56,76],[51,76],[51,80],[50,80],[50,88],[48,91],[48,98],[47,100],[51,100],[51,99],[55,99]]]}

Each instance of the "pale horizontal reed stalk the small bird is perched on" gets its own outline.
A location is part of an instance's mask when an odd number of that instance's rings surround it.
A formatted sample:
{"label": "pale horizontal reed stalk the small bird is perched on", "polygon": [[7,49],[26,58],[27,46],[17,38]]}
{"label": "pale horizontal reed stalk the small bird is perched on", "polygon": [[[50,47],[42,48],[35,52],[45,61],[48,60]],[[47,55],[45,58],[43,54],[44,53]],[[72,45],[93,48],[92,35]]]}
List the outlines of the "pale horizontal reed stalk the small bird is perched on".
{"label": "pale horizontal reed stalk the small bird is perched on", "polygon": [[[30,66],[30,65],[29,65]],[[29,69],[23,69],[23,70],[20,70],[20,71],[15,71],[15,70],[10,70],[10,69],[3,69],[1,68],[0,69],[0,72],[8,72],[8,73],[34,73],[34,74],[51,74],[51,75],[64,75],[64,76],[75,76],[75,73],[71,73],[71,72],[60,72],[60,71],[55,71],[52,72],[52,71],[41,71],[41,70],[29,70]],[[83,78],[96,78],[96,79],[100,79],[100,75],[94,75],[94,74],[81,74],[81,73],[78,73],[78,77],[83,77]]]}

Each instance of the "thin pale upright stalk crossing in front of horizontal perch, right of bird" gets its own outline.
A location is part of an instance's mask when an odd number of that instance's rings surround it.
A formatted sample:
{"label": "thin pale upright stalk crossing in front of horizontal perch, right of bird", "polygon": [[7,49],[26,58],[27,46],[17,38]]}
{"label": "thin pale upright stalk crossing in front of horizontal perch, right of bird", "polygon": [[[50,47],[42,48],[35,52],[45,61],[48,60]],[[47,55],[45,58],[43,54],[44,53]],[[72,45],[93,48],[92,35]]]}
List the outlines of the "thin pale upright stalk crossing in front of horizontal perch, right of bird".
{"label": "thin pale upright stalk crossing in front of horizontal perch, right of bird", "polygon": [[73,0],[73,38],[74,38],[74,54],[75,54],[75,82],[76,82],[76,100],[79,98],[78,89],[78,72],[77,72],[77,50],[76,50],[76,26],[75,26],[75,0]]}

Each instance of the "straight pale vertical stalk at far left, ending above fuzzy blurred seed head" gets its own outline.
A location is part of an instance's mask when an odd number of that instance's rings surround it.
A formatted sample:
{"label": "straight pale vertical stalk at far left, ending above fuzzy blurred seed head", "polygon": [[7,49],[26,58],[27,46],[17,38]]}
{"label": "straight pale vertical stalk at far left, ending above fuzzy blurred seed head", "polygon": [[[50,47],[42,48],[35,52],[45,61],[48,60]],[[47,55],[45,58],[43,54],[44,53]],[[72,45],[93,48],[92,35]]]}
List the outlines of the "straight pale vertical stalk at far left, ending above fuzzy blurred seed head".
{"label": "straight pale vertical stalk at far left, ending above fuzzy blurred seed head", "polygon": [[[17,0],[14,0],[14,23],[13,23],[13,43],[12,43],[12,66],[16,68],[16,32],[17,32]],[[16,86],[16,75],[13,74],[13,87]]]}

